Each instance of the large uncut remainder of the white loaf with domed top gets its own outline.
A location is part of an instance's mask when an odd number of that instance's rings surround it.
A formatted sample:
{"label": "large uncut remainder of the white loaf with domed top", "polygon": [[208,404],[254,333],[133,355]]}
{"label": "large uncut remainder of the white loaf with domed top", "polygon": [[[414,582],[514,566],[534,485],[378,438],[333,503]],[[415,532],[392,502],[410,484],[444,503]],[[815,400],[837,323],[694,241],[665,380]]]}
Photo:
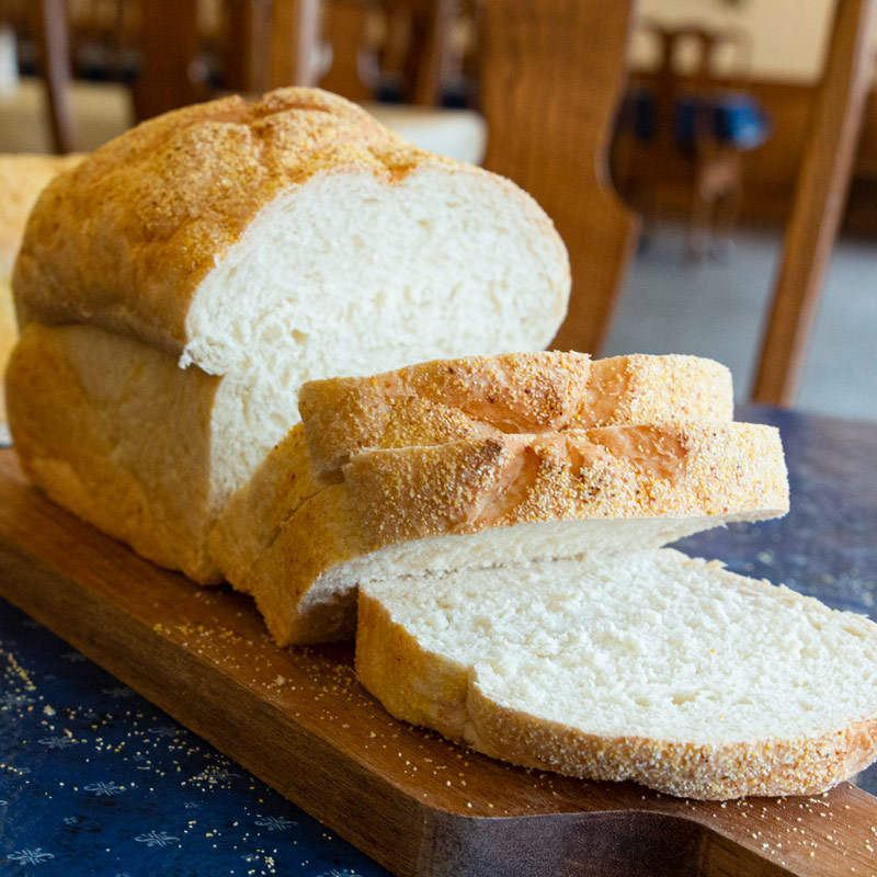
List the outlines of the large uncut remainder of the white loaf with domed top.
{"label": "large uncut remainder of the white loaf with domed top", "polygon": [[216,582],[207,534],[298,421],[305,380],[543,348],[569,264],[512,183],[340,98],[282,89],[150,119],[49,185],[14,293],[25,471]]}

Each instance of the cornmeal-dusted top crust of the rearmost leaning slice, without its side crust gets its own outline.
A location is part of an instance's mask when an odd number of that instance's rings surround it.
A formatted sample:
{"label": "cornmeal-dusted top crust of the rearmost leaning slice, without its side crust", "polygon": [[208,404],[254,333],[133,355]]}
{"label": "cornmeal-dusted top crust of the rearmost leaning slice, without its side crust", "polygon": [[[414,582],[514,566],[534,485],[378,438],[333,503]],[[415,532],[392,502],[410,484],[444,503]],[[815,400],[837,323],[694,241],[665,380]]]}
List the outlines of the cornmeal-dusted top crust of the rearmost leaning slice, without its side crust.
{"label": "cornmeal-dusted top crust of the rearmost leaning slice, without its side crust", "polygon": [[503,433],[733,418],[731,373],[697,356],[511,353],[305,384],[298,409],[326,478],[353,454]]}

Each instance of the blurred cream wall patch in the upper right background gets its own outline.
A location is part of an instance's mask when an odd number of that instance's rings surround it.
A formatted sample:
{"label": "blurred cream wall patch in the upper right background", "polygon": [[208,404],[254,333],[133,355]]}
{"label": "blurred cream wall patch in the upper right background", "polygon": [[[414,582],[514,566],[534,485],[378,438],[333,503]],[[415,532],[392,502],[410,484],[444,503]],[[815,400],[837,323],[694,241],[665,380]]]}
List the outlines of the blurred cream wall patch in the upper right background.
{"label": "blurred cream wall patch in the upper right background", "polygon": [[[734,26],[752,37],[748,72],[759,79],[812,81],[822,70],[834,0],[639,0],[637,14],[662,23]],[[652,41],[635,36],[635,66],[651,66]],[[731,61],[729,61],[729,67]]]}

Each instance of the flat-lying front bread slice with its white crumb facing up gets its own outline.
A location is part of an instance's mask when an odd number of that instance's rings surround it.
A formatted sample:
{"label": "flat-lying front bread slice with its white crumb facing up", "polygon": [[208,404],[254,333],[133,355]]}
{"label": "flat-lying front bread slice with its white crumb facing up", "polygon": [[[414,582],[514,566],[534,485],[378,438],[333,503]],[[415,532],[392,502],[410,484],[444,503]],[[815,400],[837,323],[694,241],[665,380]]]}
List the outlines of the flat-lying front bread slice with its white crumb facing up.
{"label": "flat-lying front bread slice with its white crumb facing up", "polygon": [[671,549],[363,583],[356,672],[513,764],[721,799],[877,758],[877,625]]}

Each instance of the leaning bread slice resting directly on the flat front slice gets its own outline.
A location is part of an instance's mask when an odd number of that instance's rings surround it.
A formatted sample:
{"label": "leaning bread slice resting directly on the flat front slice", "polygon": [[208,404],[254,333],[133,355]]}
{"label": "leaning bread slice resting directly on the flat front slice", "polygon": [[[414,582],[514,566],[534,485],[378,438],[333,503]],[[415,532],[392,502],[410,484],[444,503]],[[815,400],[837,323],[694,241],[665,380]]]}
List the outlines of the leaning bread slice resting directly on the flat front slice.
{"label": "leaning bread slice resting directly on the flat front slice", "polygon": [[363,581],[659,547],[788,509],[778,433],[751,423],[375,451],[353,457],[344,475],[231,579],[254,595],[278,645],[352,636]]}

